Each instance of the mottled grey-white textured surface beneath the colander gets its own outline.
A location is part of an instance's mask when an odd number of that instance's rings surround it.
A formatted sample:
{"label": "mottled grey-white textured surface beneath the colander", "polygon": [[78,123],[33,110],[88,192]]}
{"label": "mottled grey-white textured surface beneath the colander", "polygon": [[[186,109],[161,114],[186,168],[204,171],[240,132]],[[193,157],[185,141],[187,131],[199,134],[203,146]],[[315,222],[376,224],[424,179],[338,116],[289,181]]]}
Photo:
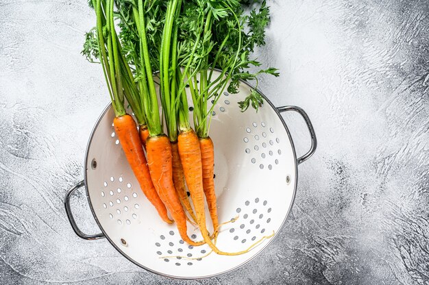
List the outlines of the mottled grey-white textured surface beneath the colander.
{"label": "mottled grey-white textured surface beneath the colander", "polygon": [[[79,55],[93,12],[84,0],[0,0],[1,284],[429,284],[428,1],[269,4],[257,53],[282,74],[260,88],[308,112],[319,148],[269,249],[234,273],[177,282],[77,238],[66,219],[64,193],[108,103],[100,67]],[[286,121],[304,153],[302,119]]]}

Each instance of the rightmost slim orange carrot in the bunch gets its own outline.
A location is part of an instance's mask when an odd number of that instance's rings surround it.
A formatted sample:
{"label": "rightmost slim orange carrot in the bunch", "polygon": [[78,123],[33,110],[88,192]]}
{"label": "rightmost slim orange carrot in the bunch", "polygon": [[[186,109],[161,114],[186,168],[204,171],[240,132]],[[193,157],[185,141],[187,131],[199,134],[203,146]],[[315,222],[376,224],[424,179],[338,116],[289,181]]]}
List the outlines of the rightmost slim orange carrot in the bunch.
{"label": "rightmost slim orange carrot in the bunch", "polygon": [[219,221],[217,217],[216,193],[215,193],[215,149],[210,137],[199,138],[199,148],[201,149],[201,167],[203,172],[203,188],[210,216],[212,218],[213,229],[217,233]]}

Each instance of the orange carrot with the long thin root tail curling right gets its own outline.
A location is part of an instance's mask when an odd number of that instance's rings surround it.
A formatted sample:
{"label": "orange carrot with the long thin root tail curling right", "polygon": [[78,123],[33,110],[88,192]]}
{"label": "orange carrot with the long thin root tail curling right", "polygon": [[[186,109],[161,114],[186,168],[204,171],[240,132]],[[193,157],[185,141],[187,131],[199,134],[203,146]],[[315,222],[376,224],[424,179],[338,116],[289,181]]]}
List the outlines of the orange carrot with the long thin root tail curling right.
{"label": "orange carrot with the long thin root tail curling right", "polygon": [[[186,179],[186,184],[188,184],[189,192],[191,193],[191,198],[194,204],[195,216],[197,216],[197,223],[199,225],[199,230],[207,245],[215,251],[215,253],[223,256],[237,256],[239,254],[247,253],[252,248],[254,248],[258,243],[262,242],[266,238],[273,236],[264,236],[256,243],[248,247],[243,251],[237,252],[225,252],[219,250],[215,244],[210,240],[208,236],[208,230],[206,227],[206,213],[204,212],[204,190],[203,190],[203,174],[201,166],[201,150],[199,148],[199,140],[197,134],[193,129],[189,129],[186,132],[181,132],[177,140],[179,146],[180,160],[182,161],[183,171]],[[168,206],[167,206],[168,207]],[[216,231],[217,229],[215,229]]]}

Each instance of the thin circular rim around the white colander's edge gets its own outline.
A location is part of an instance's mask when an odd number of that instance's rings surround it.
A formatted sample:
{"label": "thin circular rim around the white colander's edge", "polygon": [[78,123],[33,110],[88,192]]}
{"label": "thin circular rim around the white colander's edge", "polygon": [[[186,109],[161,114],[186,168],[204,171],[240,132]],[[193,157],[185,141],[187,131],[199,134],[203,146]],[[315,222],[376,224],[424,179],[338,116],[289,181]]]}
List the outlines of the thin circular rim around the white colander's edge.
{"label": "thin circular rim around the white colander's edge", "polygon": [[[216,71],[219,71],[218,69],[215,69]],[[252,84],[249,84],[249,82],[245,82],[243,80],[240,80],[241,84],[245,84],[247,85],[249,88],[254,88],[254,86],[252,86]],[[289,216],[292,207],[293,207],[293,203],[295,202],[295,195],[296,195],[296,191],[297,191],[297,182],[298,182],[298,163],[297,163],[297,156],[296,156],[296,151],[295,151],[295,145],[293,144],[293,139],[291,136],[291,133],[289,132],[289,129],[286,125],[286,123],[284,122],[284,119],[282,117],[282,114],[280,114],[278,108],[276,108],[273,103],[258,89],[256,88],[256,91],[263,97],[263,99],[265,100],[264,103],[268,103],[268,105],[273,108],[275,114],[278,115],[280,121],[283,124],[284,130],[286,131],[286,134],[288,135],[289,141],[291,143],[291,147],[292,147],[292,152],[293,152],[293,162],[295,164],[295,185],[293,186],[293,194],[292,194],[292,201],[289,205],[289,209],[286,211],[286,215],[284,216],[284,220],[282,221],[282,224],[280,225],[279,229],[281,230],[284,227],[284,223],[286,223],[286,219]],[[176,276],[176,275],[169,275],[169,274],[165,274],[165,273],[161,273],[159,271],[156,271],[154,269],[149,269],[148,267],[145,267],[143,264],[140,264],[139,262],[136,262],[136,260],[134,260],[133,258],[131,258],[130,256],[128,256],[126,253],[124,253],[117,245],[116,243],[114,243],[113,240],[110,239],[110,237],[108,236],[108,234],[106,234],[106,231],[103,229],[103,226],[101,225],[101,223],[99,222],[99,219],[97,219],[97,215],[95,214],[95,210],[93,207],[93,203],[90,200],[89,197],[89,191],[88,191],[88,186],[87,186],[87,176],[88,176],[88,153],[89,153],[89,149],[90,149],[90,145],[93,141],[93,137],[95,135],[95,131],[97,130],[97,127],[99,126],[99,123],[101,122],[101,119],[103,119],[103,116],[106,114],[106,112],[108,112],[108,110],[110,109],[110,107],[112,106],[112,103],[108,103],[108,105],[104,108],[103,112],[101,112],[100,116],[97,119],[97,123],[95,123],[93,129],[91,130],[90,133],[90,138],[88,140],[88,144],[86,145],[86,151],[85,151],[85,171],[84,171],[84,184],[85,184],[85,190],[86,190],[86,198],[88,199],[88,204],[90,206],[90,210],[93,213],[94,219],[97,223],[97,225],[99,226],[101,232],[104,234],[104,236],[106,237],[106,239],[109,241],[109,243],[115,248],[117,249],[117,251],[119,251],[119,253],[122,254],[122,256],[124,256],[125,258],[127,258],[127,260],[130,260],[130,262],[136,264],[138,267],[145,269],[151,273],[155,273],[157,275],[161,275],[164,277],[170,277],[173,279],[178,279],[178,280],[201,280],[201,279],[206,279],[206,278],[210,278],[210,277],[215,277],[215,276],[220,276],[220,275],[224,275],[226,273],[230,273],[232,271],[235,271],[236,269],[239,269],[240,267],[243,267],[245,264],[251,262],[252,260],[254,260],[254,258],[256,258],[257,256],[260,255],[260,253],[262,253],[262,251],[265,251],[265,249],[267,249],[267,247],[269,245],[271,245],[271,243],[273,243],[273,240],[275,240],[275,238],[277,238],[280,230],[278,232],[274,233],[274,236],[272,238],[270,238],[267,242],[266,245],[264,245],[264,247],[261,247],[257,253],[255,253],[252,257],[250,257],[249,259],[245,260],[244,262],[242,262],[241,264],[238,264],[236,267],[232,267],[228,270],[222,271],[221,273],[215,273],[212,275],[205,275],[205,276],[198,276],[198,277],[183,277],[183,276]]]}

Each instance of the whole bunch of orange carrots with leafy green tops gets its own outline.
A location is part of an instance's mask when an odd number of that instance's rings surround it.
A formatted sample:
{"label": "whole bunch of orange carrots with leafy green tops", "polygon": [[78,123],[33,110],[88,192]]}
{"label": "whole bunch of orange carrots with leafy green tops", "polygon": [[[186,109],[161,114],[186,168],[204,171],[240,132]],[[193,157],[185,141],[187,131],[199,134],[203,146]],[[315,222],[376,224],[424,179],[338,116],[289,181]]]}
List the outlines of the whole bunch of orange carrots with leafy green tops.
{"label": "whole bunch of orange carrots with leafy green tops", "polygon": [[[238,0],[91,0],[90,5],[97,25],[86,35],[82,53],[101,63],[115,112],[114,129],[140,188],[163,221],[175,222],[186,243],[207,243],[223,255],[247,252],[254,245],[228,253],[212,241],[219,233],[219,221],[214,145],[208,133],[212,108],[225,88],[236,92],[240,79],[256,79],[260,73],[278,75],[275,69],[244,71],[249,65],[259,66],[249,59],[249,53],[265,44],[264,30],[269,23],[265,1],[250,16],[245,16]],[[119,34],[114,16],[119,17]],[[215,69],[221,69],[216,78],[212,77]],[[160,94],[155,88],[156,70]],[[195,131],[189,123],[185,86],[191,90]],[[257,94],[252,92],[241,108],[252,104],[257,109],[262,103]],[[137,124],[126,114],[124,99]],[[211,108],[208,101],[213,102]],[[212,234],[206,226],[204,197]],[[204,240],[195,242],[188,237],[187,220],[199,227]]]}

